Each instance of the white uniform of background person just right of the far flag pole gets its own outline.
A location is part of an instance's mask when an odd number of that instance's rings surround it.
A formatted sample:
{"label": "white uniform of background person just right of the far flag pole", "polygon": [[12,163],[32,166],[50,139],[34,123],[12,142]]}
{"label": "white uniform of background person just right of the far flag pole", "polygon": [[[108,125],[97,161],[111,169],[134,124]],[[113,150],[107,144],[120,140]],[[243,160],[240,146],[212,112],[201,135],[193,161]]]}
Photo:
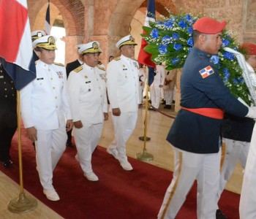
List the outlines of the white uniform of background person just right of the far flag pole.
{"label": "white uniform of background person just right of the far flag pole", "polygon": [[157,74],[154,76],[154,82],[150,86],[150,93],[151,105],[158,109],[161,99],[161,88],[159,88],[159,85],[164,85],[165,83],[165,66],[157,65],[156,73]]}

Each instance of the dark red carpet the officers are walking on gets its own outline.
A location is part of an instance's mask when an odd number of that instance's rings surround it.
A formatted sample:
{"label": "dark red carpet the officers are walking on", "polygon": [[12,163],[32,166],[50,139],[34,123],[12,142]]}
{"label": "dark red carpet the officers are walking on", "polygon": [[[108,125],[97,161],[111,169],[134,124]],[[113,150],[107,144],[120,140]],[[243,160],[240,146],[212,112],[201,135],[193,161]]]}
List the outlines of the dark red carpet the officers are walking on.
{"label": "dark red carpet the officers are walking on", "polygon": [[[99,182],[90,182],[83,177],[75,148],[67,148],[54,171],[53,185],[60,201],[48,201],[42,193],[42,186],[35,169],[35,152],[31,142],[24,137],[22,130],[23,182],[24,188],[40,201],[58,212],[64,218],[92,219],[153,219],[162,204],[165,190],[172,173],[134,158],[129,158],[132,172],[121,169],[118,161],[106,153],[105,148],[97,147],[92,164]],[[17,134],[12,141],[11,169],[0,167],[1,172],[19,183]],[[18,194],[17,194],[18,196]],[[240,196],[224,191],[219,207],[228,218],[238,217]],[[196,187],[187,196],[187,201],[178,213],[179,218],[196,218]]]}

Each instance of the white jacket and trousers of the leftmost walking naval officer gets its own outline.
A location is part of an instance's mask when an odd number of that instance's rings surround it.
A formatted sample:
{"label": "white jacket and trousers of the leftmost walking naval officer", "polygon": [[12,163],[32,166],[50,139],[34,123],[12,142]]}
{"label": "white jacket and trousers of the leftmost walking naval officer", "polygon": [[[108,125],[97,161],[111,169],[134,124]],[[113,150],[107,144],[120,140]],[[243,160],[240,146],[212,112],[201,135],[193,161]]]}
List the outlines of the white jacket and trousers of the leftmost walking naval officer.
{"label": "white jacket and trousers of the leftmost walking naval officer", "polygon": [[66,119],[72,118],[64,66],[37,61],[37,78],[20,91],[25,128],[37,128],[36,159],[40,182],[52,190],[53,169],[66,149]]}

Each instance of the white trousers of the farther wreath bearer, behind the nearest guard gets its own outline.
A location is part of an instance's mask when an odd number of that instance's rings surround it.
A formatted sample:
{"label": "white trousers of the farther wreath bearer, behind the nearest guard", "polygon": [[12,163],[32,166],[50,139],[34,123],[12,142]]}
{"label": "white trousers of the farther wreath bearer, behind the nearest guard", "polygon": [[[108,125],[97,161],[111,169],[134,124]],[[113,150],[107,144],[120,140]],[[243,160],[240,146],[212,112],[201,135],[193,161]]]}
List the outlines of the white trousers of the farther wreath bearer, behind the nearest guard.
{"label": "white trousers of the farther wreath bearer, behind the nearest guard", "polygon": [[225,158],[222,165],[222,171],[220,172],[219,179],[219,191],[218,191],[218,199],[222,195],[222,192],[225,188],[227,181],[230,179],[233,170],[236,167],[236,163],[239,159],[241,162],[241,166],[245,168],[246,159],[249,152],[249,142],[240,142],[232,139],[224,139],[226,149],[225,149]]}

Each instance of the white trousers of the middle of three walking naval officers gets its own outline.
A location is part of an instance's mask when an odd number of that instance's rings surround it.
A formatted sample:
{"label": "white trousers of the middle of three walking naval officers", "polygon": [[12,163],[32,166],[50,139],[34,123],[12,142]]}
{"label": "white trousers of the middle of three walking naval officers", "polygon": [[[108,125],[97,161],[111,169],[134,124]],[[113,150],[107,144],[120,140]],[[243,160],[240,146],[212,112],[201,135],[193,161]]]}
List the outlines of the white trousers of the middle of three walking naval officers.
{"label": "white trousers of the middle of three walking naval officers", "polygon": [[73,128],[75,145],[78,150],[79,163],[84,174],[92,172],[91,154],[94,152],[99,143],[102,128],[103,123],[83,123],[83,128]]}

